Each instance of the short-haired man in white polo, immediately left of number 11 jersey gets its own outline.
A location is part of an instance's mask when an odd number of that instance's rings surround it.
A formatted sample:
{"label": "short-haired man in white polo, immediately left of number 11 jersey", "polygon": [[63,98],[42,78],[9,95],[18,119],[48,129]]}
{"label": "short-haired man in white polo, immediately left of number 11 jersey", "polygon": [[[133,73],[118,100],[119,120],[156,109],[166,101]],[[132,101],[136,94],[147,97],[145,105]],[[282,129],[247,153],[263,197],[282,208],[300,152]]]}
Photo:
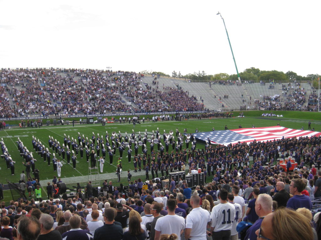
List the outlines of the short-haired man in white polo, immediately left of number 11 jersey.
{"label": "short-haired man in white polo, immediately left of number 11 jersey", "polygon": [[211,224],[210,213],[200,207],[200,197],[191,196],[193,209],[186,217],[185,239],[206,240],[206,227]]}

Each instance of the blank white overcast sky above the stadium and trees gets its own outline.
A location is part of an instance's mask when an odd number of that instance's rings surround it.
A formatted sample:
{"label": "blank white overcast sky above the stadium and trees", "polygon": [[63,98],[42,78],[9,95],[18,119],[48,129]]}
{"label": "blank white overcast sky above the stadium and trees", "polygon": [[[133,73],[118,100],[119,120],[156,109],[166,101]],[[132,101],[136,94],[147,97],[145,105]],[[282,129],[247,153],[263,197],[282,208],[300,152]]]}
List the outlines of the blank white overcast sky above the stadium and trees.
{"label": "blank white overcast sky above the stadium and trees", "polygon": [[321,1],[3,1],[0,68],[320,71]]}

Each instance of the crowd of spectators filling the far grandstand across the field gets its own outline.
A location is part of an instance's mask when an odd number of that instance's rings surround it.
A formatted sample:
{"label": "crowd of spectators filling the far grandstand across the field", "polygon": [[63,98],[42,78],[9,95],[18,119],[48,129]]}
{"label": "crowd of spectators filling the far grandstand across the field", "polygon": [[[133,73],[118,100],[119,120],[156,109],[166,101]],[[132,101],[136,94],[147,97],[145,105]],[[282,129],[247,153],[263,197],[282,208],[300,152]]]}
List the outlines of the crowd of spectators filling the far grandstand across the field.
{"label": "crowd of spectators filling the far grandstand across the field", "polygon": [[[12,110],[6,112],[7,116],[204,110],[204,105],[194,96],[189,97],[188,92],[164,85],[160,91],[144,85],[142,79],[141,73],[97,69],[2,69],[1,72],[1,83],[9,86],[6,92],[12,99],[9,101]],[[153,85],[158,86],[159,81],[154,79]],[[210,84],[238,83],[228,80]],[[247,103],[244,100],[240,109],[314,111],[316,98],[315,92],[312,93],[306,107],[306,90],[300,83],[289,83],[282,85],[282,96],[263,96],[263,100]]]}

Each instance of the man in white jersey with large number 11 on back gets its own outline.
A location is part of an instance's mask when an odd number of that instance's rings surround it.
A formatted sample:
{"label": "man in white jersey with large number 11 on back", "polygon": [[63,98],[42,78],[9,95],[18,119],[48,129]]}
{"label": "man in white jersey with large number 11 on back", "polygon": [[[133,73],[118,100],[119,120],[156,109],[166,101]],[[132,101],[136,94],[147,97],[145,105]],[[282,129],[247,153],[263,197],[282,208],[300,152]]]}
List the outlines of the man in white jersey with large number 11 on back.
{"label": "man in white jersey with large number 11 on back", "polygon": [[221,189],[221,203],[214,206],[211,213],[211,230],[213,240],[230,240],[232,221],[235,219],[235,207],[227,202],[228,191]]}

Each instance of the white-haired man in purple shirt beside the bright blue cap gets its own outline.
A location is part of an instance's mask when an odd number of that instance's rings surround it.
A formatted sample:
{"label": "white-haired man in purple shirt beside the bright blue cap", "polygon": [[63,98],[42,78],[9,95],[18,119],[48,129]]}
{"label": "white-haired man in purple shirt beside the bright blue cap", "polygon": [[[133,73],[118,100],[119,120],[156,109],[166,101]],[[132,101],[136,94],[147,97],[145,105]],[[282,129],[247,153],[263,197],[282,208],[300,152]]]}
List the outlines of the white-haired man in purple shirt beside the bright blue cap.
{"label": "white-haired man in purple shirt beside the bright blue cap", "polygon": [[255,223],[247,229],[246,236],[244,239],[256,239],[256,230],[261,227],[261,223],[264,217],[272,212],[272,197],[268,194],[260,194],[256,198],[255,202],[255,212],[259,219],[255,221]]}

